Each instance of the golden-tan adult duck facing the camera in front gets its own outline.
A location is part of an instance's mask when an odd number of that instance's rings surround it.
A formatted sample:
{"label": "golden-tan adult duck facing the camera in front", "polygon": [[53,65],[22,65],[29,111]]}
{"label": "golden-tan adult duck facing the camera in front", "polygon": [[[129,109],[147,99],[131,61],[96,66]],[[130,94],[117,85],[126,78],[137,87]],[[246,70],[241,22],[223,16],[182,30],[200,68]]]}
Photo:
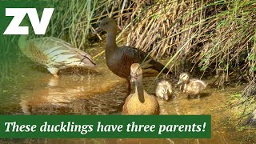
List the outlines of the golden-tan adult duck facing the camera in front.
{"label": "golden-tan adult duck facing the camera in front", "polygon": [[125,115],[157,115],[159,103],[153,95],[147,94],[142,83],[142,67],[138,63],[130,66],[130,82],[135,83],[135,92],[130,94],[122,108]]}

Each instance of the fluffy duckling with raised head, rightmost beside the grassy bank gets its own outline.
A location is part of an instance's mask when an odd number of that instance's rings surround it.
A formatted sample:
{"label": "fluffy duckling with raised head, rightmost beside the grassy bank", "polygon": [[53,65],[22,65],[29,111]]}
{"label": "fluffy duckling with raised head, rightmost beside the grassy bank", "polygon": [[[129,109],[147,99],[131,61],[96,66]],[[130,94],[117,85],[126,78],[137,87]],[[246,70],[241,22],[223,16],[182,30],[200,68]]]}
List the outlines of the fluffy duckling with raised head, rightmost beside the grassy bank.
{"label": "fluffy duckling with raised head, rightmost beside the grassy bank", "polygon": [[200,79],[190,79],[190,75],[188,73],[182,73],[179,75],[178,85],[180,86],[180,90],[182,93],[190,96],[196,96],[202,93],[202,90],[205,90],[207,87],[206,82]]}

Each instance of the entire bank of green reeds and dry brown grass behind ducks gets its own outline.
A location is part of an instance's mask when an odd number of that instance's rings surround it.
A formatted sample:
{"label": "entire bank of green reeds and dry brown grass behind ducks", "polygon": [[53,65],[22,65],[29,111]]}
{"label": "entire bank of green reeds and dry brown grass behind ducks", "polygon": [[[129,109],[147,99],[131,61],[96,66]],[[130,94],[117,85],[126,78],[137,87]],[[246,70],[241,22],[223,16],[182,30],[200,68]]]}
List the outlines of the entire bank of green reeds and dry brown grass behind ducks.
{"label": "entire bank of green reeds and dry brown grass behind ducks", "polygon": [[54,0],[50,6],[55,10],[44,36],[78,49],[88,50],[95,38],[91,31],[102,18],[113,17],[122,30],[118,42],[126,32],[126,45],[167,58],[173,71],[216,73],[220,85],[231,76],[255,77],[255,1]]}

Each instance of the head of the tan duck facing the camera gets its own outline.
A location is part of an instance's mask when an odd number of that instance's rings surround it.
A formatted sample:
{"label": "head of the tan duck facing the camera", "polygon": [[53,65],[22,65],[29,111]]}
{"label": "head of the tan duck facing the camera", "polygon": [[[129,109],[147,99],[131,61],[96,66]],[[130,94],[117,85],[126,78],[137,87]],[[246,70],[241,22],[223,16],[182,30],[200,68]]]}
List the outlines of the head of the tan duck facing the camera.
{"label": "head of the tan duck facing the camera", "polygon": [[142,67],[134,63],[130,66],[130,82],[137,82],[138,79],[142,79]]}

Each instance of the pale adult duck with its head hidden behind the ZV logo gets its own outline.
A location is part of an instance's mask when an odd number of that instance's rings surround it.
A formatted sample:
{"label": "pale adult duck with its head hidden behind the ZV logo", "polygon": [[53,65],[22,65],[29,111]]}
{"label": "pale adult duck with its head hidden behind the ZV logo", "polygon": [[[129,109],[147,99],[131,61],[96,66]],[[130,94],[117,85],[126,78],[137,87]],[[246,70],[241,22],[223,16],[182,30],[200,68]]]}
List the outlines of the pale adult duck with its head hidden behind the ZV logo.
{"label": "pale adult duck with its head hidden behind the ZV logo", "polygon": [[22,54],[31,61],[45,66],[55,78],[59,78],[58,70],[68,67],[97,67],[94,59],[86,52],[71,46],[60,38],[43,37],[28,39],[28,35],[21,35],[18,47]]}

